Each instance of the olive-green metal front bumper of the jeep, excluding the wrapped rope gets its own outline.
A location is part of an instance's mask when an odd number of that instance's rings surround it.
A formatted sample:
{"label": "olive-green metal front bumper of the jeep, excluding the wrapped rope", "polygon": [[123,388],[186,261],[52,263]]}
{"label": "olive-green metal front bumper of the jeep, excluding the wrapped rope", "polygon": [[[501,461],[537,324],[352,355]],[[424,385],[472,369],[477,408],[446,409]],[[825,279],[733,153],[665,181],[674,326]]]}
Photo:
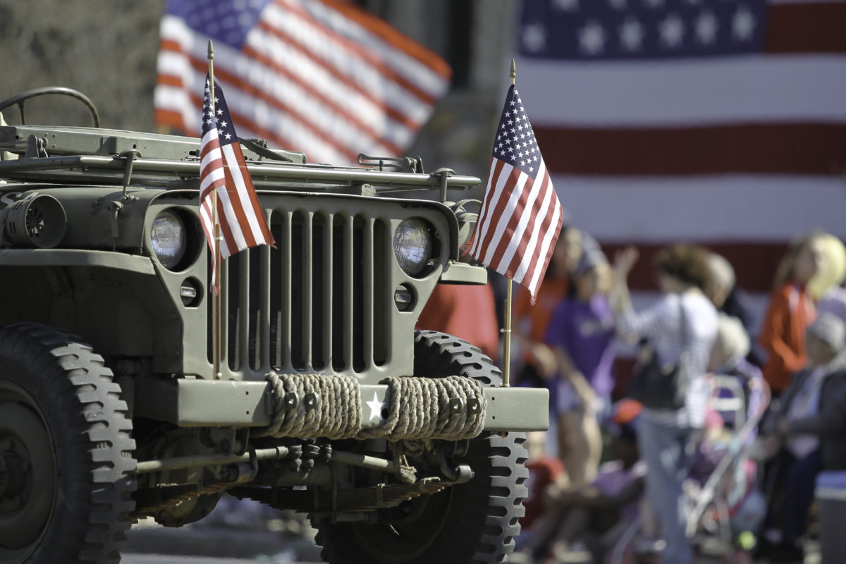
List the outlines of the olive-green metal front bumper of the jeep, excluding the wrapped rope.
{"label": "olive-green metal front bumper of the jeep, excluding the wrapped rope", "polygon": [[[131,397],[133,416],[160,419],[179,427],[266,427],[273,415],[272,389],[266,381],[143,378],[121,381],[121,385]],[[362,384],[360,390],[361,426],[377,427],[382,419],[371,406],[387,406],[391,401],[388,386]],[[490,386],[484,390],[485,430],[547,430],[546,389]]]}

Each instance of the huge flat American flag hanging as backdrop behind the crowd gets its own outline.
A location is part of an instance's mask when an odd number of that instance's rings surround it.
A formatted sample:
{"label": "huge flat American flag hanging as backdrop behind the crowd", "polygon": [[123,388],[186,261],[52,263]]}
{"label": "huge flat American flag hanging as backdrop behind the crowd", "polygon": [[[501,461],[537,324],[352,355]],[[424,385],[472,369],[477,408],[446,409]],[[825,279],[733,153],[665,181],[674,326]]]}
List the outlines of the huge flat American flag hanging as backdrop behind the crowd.
{"label": "huge flat American flag hanging as backdrop behind the crowd", "polygon": [[733,263],[760,310],[789,238],[846,236],[846,3],[520,10],[520,90],[552,181],[603,247],[641,246],[634,289],[655,287],[656,249],[694,241]]}

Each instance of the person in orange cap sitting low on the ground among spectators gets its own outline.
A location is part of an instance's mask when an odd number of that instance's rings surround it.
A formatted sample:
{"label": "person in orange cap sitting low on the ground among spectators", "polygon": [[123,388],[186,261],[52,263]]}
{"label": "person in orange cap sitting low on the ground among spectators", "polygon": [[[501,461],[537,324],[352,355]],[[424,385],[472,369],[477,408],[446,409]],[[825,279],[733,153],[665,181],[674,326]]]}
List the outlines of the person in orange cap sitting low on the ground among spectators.
{"label": "person in orange cap sitting low on the ground among spectators", "polygon": [[613,545],[607,537],[613,536],[613,530],[622,531],[638,516],[646,472],[634,432],[638,413],[637,402],[618,403],[609,426],[613,459],[600,466],[590,485],[550,488],[549,509],[536,523],[528,546],[536,561],[550,552],[565,553],[575,541],[585,542],[595,560],[602,561],[605,551]]}

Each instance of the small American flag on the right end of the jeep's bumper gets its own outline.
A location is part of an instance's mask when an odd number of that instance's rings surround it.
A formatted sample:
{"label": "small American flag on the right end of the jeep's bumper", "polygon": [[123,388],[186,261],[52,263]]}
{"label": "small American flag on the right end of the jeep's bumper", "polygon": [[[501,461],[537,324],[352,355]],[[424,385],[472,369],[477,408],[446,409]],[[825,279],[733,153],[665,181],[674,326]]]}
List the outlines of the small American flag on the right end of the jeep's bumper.
{"label": "small American flag on the right end of the jeep's bumper", "polygon": [[493,144],[470,255],[528,288],[534,301],[562,221],[558,195],[512,85]]}

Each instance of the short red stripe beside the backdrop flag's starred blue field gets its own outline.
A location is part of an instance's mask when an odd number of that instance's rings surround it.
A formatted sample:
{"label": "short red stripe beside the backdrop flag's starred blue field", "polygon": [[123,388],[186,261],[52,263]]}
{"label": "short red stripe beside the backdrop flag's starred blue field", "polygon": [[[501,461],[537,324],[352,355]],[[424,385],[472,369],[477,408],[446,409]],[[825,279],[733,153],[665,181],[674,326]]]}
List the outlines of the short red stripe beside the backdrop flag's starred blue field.
{"label": "short red stripe beside the backdrop flag's starred blue field", "polygon": [[846,52],[846,3],[776,4],[766,15],[766,52]]}

